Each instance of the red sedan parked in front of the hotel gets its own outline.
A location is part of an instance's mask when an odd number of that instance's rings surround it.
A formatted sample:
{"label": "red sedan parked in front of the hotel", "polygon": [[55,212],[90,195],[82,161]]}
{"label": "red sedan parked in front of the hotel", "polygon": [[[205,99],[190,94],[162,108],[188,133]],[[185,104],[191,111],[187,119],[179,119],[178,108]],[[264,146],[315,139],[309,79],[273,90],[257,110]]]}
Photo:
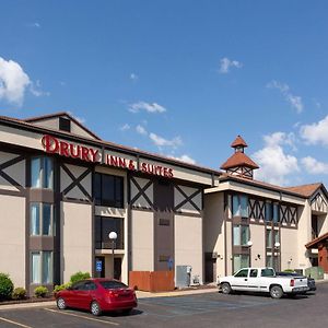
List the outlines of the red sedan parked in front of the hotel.
{"label": "red sedan parked in front of the hotel", "polygon": [[137,307],[132,289],[113,279],[87,279],[55,294],[57,307],[89,309],[95,316],[105,311],[122,311],[128,314]]}

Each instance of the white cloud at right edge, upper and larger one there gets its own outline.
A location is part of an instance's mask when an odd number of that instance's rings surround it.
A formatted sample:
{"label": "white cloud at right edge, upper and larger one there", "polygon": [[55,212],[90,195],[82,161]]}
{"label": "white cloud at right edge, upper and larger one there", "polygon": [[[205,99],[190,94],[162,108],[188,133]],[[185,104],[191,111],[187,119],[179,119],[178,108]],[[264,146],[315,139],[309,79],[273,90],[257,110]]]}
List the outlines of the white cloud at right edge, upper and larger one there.
{"label": "white cloud at right edge, upper and larger one there", "polygon": [[318,122],[302,126],[300,134],[309,144],[328,145],[328,115]]}

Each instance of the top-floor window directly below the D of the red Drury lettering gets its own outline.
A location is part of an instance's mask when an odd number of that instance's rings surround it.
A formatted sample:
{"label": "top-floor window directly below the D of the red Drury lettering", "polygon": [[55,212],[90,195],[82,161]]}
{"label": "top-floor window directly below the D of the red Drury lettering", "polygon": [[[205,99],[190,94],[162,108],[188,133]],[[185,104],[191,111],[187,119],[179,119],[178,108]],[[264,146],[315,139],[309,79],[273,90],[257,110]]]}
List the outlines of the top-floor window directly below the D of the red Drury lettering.
{"label": "top-floor window directly below the D of the red Drury lettering", "polygon": [[50,157],[34,157],[31,161],[31,187],[54,189],[54,167]]}

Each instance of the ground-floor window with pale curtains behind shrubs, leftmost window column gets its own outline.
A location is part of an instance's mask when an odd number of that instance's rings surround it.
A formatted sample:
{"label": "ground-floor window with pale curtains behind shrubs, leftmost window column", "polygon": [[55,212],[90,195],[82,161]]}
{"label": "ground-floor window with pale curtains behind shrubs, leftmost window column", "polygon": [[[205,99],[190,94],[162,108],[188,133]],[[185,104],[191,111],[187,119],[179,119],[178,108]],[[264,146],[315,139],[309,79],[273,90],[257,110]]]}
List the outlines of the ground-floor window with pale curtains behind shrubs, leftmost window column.
{"label": "ground-floor window with pale curtains behind shrubs, leftmost window column", "polygon": [[31,283],[52,283],[52,251],[32,251]]}

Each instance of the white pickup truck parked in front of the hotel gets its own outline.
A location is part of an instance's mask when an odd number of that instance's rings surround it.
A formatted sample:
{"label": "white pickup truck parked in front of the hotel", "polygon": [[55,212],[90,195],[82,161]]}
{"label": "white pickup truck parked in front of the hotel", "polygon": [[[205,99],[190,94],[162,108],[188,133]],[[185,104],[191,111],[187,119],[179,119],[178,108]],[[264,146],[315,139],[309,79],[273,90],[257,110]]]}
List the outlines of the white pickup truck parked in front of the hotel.
{"label": "white pickup truck parked in front of the hotel", "polygon": [[307,278],[276,277],[272,268],[243,268],[234,276],[221,277],[218,285],[223,294],[232,291],[267,292],[272,298],[308,291]]}

